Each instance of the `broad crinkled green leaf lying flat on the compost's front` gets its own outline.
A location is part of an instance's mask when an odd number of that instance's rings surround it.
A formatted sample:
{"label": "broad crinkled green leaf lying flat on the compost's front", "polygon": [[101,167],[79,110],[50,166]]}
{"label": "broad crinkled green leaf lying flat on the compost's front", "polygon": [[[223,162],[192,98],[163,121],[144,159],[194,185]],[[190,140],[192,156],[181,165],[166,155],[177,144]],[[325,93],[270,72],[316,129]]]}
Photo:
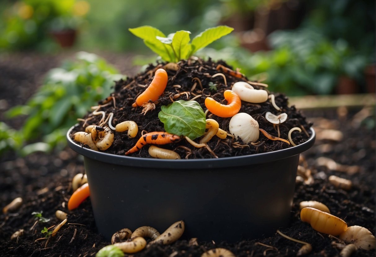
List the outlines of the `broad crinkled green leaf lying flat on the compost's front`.
{"label": "broad crinkled green leaf lying flat on the compost's front", "polygon": [[205,133],[206,117],[196,101],[179,100],[161,106],[158,118],[168,133],[195,139]]}

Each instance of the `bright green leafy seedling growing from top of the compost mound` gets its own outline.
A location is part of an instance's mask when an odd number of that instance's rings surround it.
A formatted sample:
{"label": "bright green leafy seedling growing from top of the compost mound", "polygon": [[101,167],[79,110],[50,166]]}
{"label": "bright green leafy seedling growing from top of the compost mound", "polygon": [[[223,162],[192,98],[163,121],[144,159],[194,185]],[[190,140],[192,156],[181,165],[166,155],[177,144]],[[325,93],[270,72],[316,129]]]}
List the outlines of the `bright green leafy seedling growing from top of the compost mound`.
{"label": "bright green leafy seedling growing from top of the compost mound", "polygon": [[163,60],[172,63],[188,60],[199,49],[226,36],[232,30],[233,28],[224,25],[208,28],[191,41],[191,32],[186,30],[179,30],[165,36],[162,31],[152,26],[129,28],[129,31],[143,39],[145,45],[153,52],[161,56]]}

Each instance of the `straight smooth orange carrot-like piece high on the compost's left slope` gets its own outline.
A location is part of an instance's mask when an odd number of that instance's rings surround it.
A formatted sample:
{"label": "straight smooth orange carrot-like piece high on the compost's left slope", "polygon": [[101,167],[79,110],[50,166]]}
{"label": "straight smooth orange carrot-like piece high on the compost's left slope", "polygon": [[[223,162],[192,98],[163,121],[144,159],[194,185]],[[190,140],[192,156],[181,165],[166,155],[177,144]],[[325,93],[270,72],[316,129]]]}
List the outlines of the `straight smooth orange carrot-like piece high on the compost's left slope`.
{"label": "straight smooth orange carrot-like piece high on the compost's left slope", "polygon": [[158,100],[166,88],[167,80],[167,72],[164,69],[156,70],[149,87],[136,98],[136,102],[132,104],[132,107],[142,106],[144,103],[148,103],[149,100],[153,102]]}

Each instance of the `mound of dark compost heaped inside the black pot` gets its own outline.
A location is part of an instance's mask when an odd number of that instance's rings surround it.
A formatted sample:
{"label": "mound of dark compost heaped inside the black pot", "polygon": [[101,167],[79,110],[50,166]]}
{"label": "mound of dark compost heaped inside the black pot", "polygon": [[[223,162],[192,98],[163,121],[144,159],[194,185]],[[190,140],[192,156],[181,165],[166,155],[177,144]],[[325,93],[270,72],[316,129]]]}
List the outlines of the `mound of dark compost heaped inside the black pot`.
{"label": "mound of dark compost heaped inside the black pot", "polygon": [[[148,107],[146,105],[133,108],[132,104],[135,102],[136,97],[150,84],[158,68],[165,69],[168,74],[168,82],[164,93],[157,101],[148,104],[149,107],[152,107],[149,110],[145,109]],[[154,66],[150,64],[145,72],[133,78],[117,81],[114,93],[108,99],[100,102],[98,106],[93,106],[93,112],[89,112],[86,117],[81,119],[79,126],[73,130],[73,133],[84,131],[85,127],[91,124],[104,127],[108,126],[108,122],[111,122],[112,126],[116,126],[116,124],[124,121],[134,121],[138,125],[137,136],[129,138],[126,132],[114,132],[114,142],[105,150],[107,153],[124,155],[125,152],[135,146],[137,140],[144,133],[165,131],[164,124],[158,118],[161,106],[168,106],[172,102],[179,100],[188,101],[194,99],[203,110],[206,110],[206,97],[212,97],[217,102],[226,105],[223,93],[225,90],[231,89],[232,85],[238,81],[249,82],[255,90],[267,90],[267,87],[264,87],[267,85],[248,81],[244,75],[230,69],[231,67],[224,61],[213,62],[210,59],[208,61],[202,59],[183,60],[177,65],[160,63]],[[267,99],[262,103],[241,101],[239,112],[251,115],[258,122],[260,129],[264,129],[274,137],[280,137],[285,140],[288,139],[289,130],[293,127],[298,127],[302,132],[293,132],[291,134],[292,140],[297,145],[305,142],[310,136],[309,128],[312,124],[307,123],[305,117],[294,106],[288,106],[288,98],[284,94],[274,94],[268,91],[268,95],[274,96],[275,106],[280,108],[279,110],[273,106],[272,99]],[[267,112],[276,115],[286,113],[287,121],[278,124],[277,127],[265,119]],[[219,128],[229,134],[231,118],[221,118],[210,112],[207,114],[207,118],[217,121]],[[83,146],[88,147],[85,144]],[[238,138],[227,136],[224,140],[213,137],[208,142],[208,146],[210,149],[205,147],[194,148],[185,139],[182,139],[180,142],[165,145],[164,148],[177,152],[181,158],[214,158],[276,151],[288,148],[291,145],[280,140],[269,140],[260,133],[259,139],[255,143],[244,143]],[[147,146],[140,151],[132,153],[132,156],[150,158]]]}

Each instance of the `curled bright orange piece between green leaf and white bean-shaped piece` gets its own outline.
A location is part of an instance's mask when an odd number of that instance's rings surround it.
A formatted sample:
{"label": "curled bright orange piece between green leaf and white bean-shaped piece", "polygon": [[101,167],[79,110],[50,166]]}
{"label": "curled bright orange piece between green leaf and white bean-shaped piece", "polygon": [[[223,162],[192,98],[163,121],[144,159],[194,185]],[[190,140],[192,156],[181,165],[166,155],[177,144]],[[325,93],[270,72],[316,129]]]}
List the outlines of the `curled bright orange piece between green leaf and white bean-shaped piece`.
{"label": "curled bright orange piece between green leaf and white bean-shaped piece", "polygon": [[232,90],[226,90],[223,93],[224,99],[227,100],[227,105],[218,103],[211,97],[206,97],[205,106],[208,110],[219,117],[228,118],[237,114],[241,108],[241,100],[239,96]]}

